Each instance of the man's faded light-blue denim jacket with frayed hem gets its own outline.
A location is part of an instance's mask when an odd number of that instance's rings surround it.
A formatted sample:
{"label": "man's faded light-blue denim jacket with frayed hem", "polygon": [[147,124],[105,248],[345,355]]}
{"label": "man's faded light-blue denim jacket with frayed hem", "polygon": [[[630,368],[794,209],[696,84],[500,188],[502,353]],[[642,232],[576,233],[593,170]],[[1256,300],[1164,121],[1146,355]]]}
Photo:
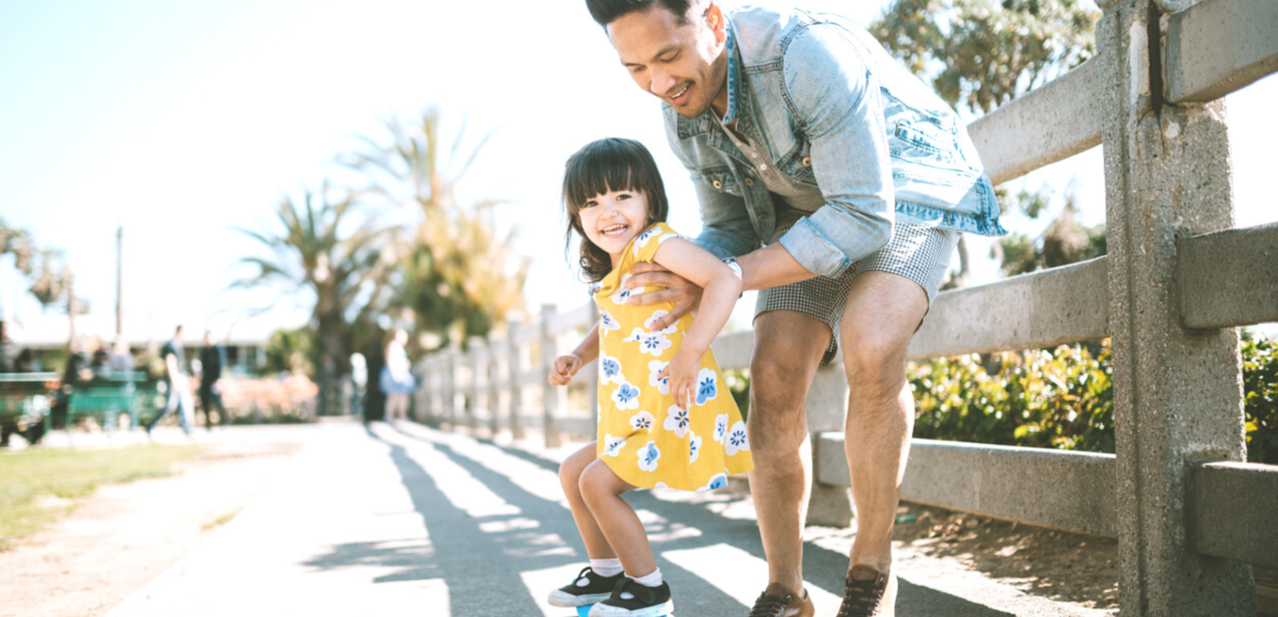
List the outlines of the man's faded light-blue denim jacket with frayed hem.
{"label": "man's faded light-blue denim jacket with frayed hem", "polygon": [[[883,247],[895,221],[1003,235],[989,175],[957,115],[864,29],[837,15],[745,6],[728,17],[725,123],[826,204],[778,240],[835,277]],[[776,231],[771,193],[709,110],[663,106],[666,135],[702,207],[697,244],[718,257]]]}

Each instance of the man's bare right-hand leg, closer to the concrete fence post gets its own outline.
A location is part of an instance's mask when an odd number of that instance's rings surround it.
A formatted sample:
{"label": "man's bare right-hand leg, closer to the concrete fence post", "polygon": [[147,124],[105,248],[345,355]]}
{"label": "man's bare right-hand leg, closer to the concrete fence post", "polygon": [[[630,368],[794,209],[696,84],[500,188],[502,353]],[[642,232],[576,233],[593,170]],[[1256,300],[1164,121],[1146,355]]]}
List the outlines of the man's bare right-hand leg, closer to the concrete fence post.
{"label": "man's bare right-hand leg, closer to the concrete fence post", "polygon": [[852,282],[840,322],[850,390],[845,443],[856,505],[850,561],[884,572],[892,567],[892,522],[914,427],[905,353],[927,312],[919,284],[872,271]]}

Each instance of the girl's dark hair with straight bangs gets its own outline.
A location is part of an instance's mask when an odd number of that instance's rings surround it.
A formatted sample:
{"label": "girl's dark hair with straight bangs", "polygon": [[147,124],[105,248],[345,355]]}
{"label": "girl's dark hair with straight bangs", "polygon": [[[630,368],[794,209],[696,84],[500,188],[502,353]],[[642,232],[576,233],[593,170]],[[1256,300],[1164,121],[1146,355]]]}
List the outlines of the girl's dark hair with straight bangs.
{"label": "girl's dark hair with straight bangs", "polygon": [[611,190],[643,193],[648,203],[648,222],[666,222],[670,203],[666,187],[661,183],[657,162],[648,148],[634,139],[610,137],[590,142],[576,151],[564,165],[564,207],[567,209],[567,230],[564,234],[564,252],[573,245],[573,232],[581,238],[581,255],[578,264],[590,282],[598,282],[612,271],[612,257],[596,247],[581,227],[581,207],[585,202]]}

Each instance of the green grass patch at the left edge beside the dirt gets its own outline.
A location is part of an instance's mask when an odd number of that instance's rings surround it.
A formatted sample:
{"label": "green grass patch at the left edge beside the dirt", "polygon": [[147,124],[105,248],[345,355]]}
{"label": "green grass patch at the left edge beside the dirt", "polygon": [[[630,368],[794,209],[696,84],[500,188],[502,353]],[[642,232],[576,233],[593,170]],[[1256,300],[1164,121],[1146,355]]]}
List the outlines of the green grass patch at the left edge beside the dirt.
{"label": "green grass patch at the left edge beside the dirt", "polygon": [[0,452],[0,551],[13,548],[14,540],[43,529],[74,507],[74,503],[49,506],[49,501],[87,497],[101,484],[170,475],[173,462],[198,450],[151,445]]}

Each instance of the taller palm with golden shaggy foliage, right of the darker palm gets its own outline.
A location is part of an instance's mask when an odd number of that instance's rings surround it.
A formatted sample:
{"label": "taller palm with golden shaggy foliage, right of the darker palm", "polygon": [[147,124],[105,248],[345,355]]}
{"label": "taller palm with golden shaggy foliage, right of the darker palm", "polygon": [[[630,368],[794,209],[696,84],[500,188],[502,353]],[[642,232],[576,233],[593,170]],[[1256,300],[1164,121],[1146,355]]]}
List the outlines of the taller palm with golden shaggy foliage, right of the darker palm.
{"label": "taller palm with golden shaggy foliage, right of the darker palm", "polygon": [[386,123],[389,139],[363,137],[363,148],[339,156],[377,195],[417,211],[415,229],[400,239],[399,271],[389,309],[410,309],[418,330],[441,344],[484,336],[524,304],[528,259],[511,248],[514,232],[498,236],[493,209],[500,202],[459,204],[455,188],[488,141],[463,149],[465,124],[445,152],[440,111],[420,121]]}

